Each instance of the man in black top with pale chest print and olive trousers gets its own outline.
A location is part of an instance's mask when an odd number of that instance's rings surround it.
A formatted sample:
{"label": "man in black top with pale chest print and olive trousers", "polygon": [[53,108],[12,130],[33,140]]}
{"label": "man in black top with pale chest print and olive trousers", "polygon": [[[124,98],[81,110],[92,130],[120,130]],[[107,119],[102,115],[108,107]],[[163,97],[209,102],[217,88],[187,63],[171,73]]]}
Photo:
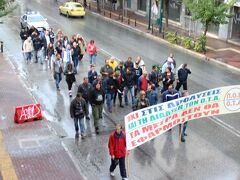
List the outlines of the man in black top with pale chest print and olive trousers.
{"label": "man in black top with pale chest print and olive trousers", "polygon": [[104,91],[99,83],[96,84],[89,95],[96,134],[99,134],[99,119],[102,117],[103,104],[105,100],[104,96]]}

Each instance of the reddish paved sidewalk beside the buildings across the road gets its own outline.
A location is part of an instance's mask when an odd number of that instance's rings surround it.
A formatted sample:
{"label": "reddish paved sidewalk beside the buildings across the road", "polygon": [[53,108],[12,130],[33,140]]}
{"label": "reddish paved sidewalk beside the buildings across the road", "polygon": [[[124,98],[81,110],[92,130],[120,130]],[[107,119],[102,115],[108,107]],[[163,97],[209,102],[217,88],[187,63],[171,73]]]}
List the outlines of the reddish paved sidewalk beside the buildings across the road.
{"label": "reddish paved sidewalk beside the buildings across the road", "polygon": [[[88,10],[97,13],[96,2],[89,4]],[[105,9],[102,9],[101,15],[112,20],[128,25],[132,28],[140,30],[144,33],[152,34],[154,36],[163,38],[163,34],[158,33],[157,27],[154,26],[153,31],[148,30],[148,20],[146,17],[138,15],[134,12],[127,11],[127,16],[122,17],[122,10],[111,11],[111,7],[105,4]],[[169,24],[171,31],[183,32],[179,27],[175,27]],[[203,54],[202,54],[203,55]],[[228,42],[214,39],[211,37],[207,38],[207,52],[206,59],[215,59],[222,63],[226,63],[230,66],[240,69],[240,47],[230,44]]]}

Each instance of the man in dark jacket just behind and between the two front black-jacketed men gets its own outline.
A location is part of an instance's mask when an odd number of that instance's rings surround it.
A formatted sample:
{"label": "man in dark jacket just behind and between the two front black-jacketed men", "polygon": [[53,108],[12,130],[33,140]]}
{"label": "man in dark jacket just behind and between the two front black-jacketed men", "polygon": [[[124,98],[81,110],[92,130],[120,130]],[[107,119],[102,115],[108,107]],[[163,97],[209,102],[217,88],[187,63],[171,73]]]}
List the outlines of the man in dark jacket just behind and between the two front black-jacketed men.
{"label": "man in dark jacket just behind and between the two front black-jacketed men", "polygon": [[[89,93],[92,90],[92,85],[88,82],[88,78],[83,78],[83,83],[78,87],[78,93],[82,94],[82,97],[85,99],[87,105],[89,105]],[[89,115],[86,115],[86,119],[90,120]]]}

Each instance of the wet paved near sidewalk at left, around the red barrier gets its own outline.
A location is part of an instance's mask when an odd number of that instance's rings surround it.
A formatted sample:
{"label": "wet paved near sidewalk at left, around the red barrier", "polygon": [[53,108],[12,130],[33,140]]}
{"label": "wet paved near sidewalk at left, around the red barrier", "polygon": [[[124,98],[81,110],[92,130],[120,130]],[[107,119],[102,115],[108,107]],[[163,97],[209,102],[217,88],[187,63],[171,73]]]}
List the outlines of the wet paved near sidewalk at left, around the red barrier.
{"label": "wet paved near sidewalk at left, around the red barrier", "polygon": [[0,179],[84,179],[47,120],[14,123],[14,108],[34,103],[0,53]]}

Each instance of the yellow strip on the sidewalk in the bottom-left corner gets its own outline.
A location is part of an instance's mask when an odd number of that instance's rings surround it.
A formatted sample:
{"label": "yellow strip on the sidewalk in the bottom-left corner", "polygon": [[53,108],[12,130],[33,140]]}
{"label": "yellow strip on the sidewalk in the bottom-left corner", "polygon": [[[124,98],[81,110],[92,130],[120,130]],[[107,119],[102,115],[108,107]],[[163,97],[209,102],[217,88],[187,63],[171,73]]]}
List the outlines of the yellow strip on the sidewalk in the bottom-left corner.
{"label": "yellow strip on the sidewalk in the bottom-left corner", "polygon": [[[0,176],[3,180],[17,180],[17,175],[12,160],[5,150],[3,135],[0,131]],[[1,178],[1,177],[0,177]]]}

